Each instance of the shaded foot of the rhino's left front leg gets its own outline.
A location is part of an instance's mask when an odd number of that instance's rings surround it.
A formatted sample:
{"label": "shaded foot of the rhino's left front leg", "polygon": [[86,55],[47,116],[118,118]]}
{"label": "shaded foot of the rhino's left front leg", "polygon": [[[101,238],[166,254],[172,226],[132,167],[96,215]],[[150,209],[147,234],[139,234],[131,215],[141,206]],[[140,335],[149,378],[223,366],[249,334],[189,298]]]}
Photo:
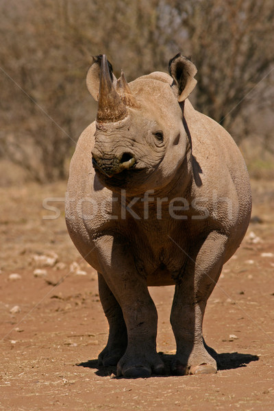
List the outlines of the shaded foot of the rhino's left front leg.
{"label": "shaded foot of the rhino's left front leg", "polygon": [[117,365],[117,377],[125,378],[147,378],[151,374],[162,375],[165,373],[164,363],[158,357],[158,354],[147,358],[129,358],[128,356],[123,356]]}

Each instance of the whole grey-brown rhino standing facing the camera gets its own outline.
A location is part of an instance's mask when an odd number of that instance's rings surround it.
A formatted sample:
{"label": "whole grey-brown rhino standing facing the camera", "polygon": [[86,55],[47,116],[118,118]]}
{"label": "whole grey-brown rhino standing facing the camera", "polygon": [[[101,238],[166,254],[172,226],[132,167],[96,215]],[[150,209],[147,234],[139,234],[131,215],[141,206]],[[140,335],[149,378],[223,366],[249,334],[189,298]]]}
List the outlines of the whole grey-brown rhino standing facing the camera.
{"label": "whole grey-brown rhino standing facing the camera", "polygon": [[116,79],[105,55],[88,71],[97,119],[71,160],[66,224],[98,272],[109,323],[99,364],[116,366],[117,376],[166,372],[149,286],[175,285],[170,372],[217,370],[203,315],[223,264],[245,236],[251,191],[232,137],[188,100],[196,73],[180,53],[169,74],[153,72],[129,84],[123,71]]}

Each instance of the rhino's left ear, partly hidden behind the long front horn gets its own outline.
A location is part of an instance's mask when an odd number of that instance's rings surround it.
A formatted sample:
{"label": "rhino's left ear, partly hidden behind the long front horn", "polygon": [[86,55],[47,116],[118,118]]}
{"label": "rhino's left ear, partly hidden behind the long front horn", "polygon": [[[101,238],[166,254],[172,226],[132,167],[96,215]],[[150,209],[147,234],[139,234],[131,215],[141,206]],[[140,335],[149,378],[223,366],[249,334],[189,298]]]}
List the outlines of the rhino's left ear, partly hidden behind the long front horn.
{"label": "rhino's left ear, partly hidden behind the long front horn", "polygon": [[[92,57],[92,64],[88,69],[88,74],[86,75],[86,86],[92,97],[95,99],[95,101],[98,101],[99,98],[100,71],[102,58],[102,54],[99,54],[96,57]],[[112,64],[109,61],[108,69],[110,71],[110,78],[112,79],[112,83],[115,85],[117,80],[112,71]]]}

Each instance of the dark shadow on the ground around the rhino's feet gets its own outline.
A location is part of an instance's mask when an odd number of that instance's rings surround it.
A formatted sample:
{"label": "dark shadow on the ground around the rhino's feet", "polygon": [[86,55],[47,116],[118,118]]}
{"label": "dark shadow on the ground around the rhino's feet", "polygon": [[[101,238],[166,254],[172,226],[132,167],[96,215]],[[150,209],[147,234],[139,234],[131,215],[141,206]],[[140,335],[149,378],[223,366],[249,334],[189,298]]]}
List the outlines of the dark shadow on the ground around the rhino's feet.
{"label": "dark shadow on the ground around the rhino's feet", "polygon": [[[159,352],[159,355],[164,362],[166,373],[164,376],[170,376],[171,374],[171,362],[174,355],[165,354]],[[221,353],[218,354],[217,364],[218,371],[238,369],[243,366],[247,366],[252,361],[258,361],[260,358],[255,354],[243,354],[243,353]],[[84,366],[84,368],[97,369],[95,372],[99,377],[110,377],[110,375],[116,374],[116,366],[103,366],[98,364],[98,360],[88,360],[86,362],[80,362],[77,366]],[[159,375],[152,375],[152,377],[159,377]]]}

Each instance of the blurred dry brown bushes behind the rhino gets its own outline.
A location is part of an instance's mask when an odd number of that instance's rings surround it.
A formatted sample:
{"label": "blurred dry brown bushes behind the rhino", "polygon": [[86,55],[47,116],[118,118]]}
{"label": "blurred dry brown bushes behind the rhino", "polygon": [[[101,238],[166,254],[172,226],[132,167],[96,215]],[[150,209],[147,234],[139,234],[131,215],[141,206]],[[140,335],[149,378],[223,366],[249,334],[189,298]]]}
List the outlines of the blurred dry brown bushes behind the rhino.
{"label": "blurred dry brown bushes behind the rhino", "polygon": [[195,107],[223,124],[252,164],[271,164],[272,0],[1,0],[0,10],[0,154],[37,181],[66,177],[95,119],[85,77],[99,53],[128,81],[167,71],[178,51],[191,55]]}

